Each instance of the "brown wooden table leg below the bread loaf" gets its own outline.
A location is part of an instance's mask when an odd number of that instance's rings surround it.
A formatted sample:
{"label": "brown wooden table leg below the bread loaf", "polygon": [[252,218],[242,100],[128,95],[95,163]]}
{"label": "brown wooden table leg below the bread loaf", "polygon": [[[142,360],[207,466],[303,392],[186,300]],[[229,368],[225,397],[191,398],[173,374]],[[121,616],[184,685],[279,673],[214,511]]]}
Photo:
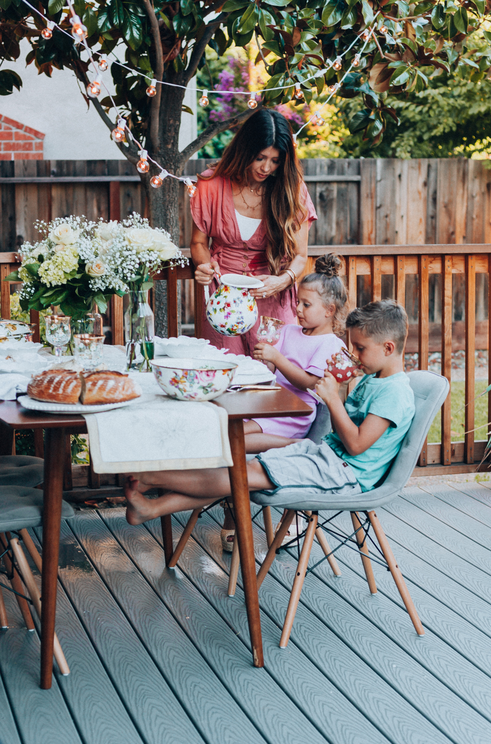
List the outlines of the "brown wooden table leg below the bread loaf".
{"label": "brown wooden table leg below the bread loaf", "polygon": [[58,582],[59,530],[62,522],[65,429],[46,429],[45,487],[42,510],[41,687],[53,676],[53,641]]}

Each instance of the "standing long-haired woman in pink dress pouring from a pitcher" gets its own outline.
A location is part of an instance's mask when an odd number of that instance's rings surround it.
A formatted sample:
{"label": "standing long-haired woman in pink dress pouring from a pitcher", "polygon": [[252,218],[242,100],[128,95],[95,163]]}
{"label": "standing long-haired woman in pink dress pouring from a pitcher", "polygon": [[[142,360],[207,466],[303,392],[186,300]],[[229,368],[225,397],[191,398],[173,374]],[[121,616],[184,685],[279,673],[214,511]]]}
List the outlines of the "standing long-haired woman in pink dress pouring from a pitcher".
{"label": "standing long-haired woman in pink dress pouring from a pitcher", "polygon": [[[237,132],[213,170],[198,176],[191,199],[195,279],[217,288],[219,274],[254,275],[258,315],[296,323],[296,277],[307,260],[308,229],[317,219],[287,120],[261,109]],[[212,245],[209,248],[209,238]],[[202,333],[218,347],[252,356],[256,325],[243,336],[221,336],[203,307]]]}

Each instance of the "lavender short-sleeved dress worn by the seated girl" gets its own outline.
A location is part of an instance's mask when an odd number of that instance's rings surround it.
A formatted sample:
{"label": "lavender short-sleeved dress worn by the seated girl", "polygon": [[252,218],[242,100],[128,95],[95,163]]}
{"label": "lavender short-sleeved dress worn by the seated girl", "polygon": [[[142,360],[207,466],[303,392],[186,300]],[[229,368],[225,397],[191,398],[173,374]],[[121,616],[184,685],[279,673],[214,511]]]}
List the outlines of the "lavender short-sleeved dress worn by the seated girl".
{"label": "lavender short-sleeved dress worn by the seated girl", "polygon": [[[279,341],[276,344],[283,356],[293,362],[305,372],[324,376],[326,360],[331,361],[331,356],[345,347],[345,344],[334,333],[325,333],[323,336],[305,336],[299,325],[287,325],[282,328]],[[303,439],[308,433],[312,422],[316,417],[316,399],[305,390],[299,390],[279,370],[276,370],[276,380],[283,388],[292,391],[299,398],[310,405],[312,413],[308,416],[287,416],[284,418],[253,419],[263,431],[263,434],[277,434],[279,437],[291,437]],[[319,403],[320,405],[320,403]]]}

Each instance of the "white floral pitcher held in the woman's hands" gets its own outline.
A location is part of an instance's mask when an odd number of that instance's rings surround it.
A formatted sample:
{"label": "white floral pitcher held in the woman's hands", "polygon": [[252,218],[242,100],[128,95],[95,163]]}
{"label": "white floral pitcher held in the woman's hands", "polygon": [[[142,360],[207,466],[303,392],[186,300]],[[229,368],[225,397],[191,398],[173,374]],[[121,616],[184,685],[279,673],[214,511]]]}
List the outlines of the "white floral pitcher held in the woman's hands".
{"label": "white floral pitcher held in the woman's hands", "polygon": [[249,290],[258,289],[264,283],[241,274],[224,274],[218,280],[218,289],[211,297],[208,287],[204,288],[209,324],[223,336],[241,336],[258,319],[258,306]]}

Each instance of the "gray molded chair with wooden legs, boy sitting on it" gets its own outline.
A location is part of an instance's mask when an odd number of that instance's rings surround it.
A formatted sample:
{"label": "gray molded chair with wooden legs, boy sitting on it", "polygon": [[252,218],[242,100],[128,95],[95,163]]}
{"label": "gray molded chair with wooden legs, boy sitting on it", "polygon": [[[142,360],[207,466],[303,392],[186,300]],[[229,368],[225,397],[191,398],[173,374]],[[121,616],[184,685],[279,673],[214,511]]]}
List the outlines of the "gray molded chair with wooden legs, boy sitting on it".
{"label": "gray molded chair with wooden legs, boy sitting on it", "polygon": [[[268,504],[270,506],[283,507],[287,510],[286,514],[284,514],[282,525],[276,533],[275,539],[270,545],[266,558],[258,571],[258,586],[261,586],[267,571],[269,571],[275,558],[276,551],[281,549],[282,540],[286,535],[293,518],[296,516],[296,513],[302,513],[308,522],[305,533],[302,533],[301,535],[305,535],[305,539],[302,545],[302,552],[296,569],[295,579],[293,580],[290,601],[288,603],[287,614],[284,620],[282,638],[279,644],[282,648],[287,646],[288,639],[290,638],[293,619],[295,618],[302,585],[305,580],[305,574],[308,570],[308,559],[310,557],[313,537],[316,534],[316,530],[319,531],[320,528],[322,531],[330,533],[336,539],[339,539],[339,530],[331,530],[330,523],[331,519],[334,519],[334,516],[337,516],[337,514],[343,511],[349,511],[351,513],[354,532],[351,533],[351,535],[346,535],[345,539],[340,539],[340,544],[336,550],[347,542],[354,542],[356,540],[355,545],[357,545],[357,549],[360,551],[360,557],[362,559],[363,568],[365,569],[365,576],[368,581],[369,589],[372,594],[375,594],[377,592],[377,585],[371,568],[371,557],[367,546],[368,539],[371,539],[371,536],[368,535],[368,530],[370,527],[373,527],[383,557],[386,560],[389,571],[391,571],[392,577],[394,578],[397,589],[400,592],[400,596],[406,606],[414,628],[418,635],[424,635],[423,626],[421,625],[420,618],[414,608],[406,583],[403,580],[403,575],[394,559],[386,535],[383,532],[382,526],[380,525],[379,519],[374,511],[376,508],[381,507],[383,504],[387,504],[388,501],[396,498],[406,485],[407,481],[411,477],[414,466],[417,463],[417,458],[423,447],[429,427],[431,426],[438,409],[449,393],[448,380],[438,374],[427,371],[417,371],[409,372],[408,376],[410,385],[414,392],[414,405],[416,411],[414,413],[412,424],[409,427],[409,431],[403,439],[399,453],[394,459],[394,462],[392,463],[382,484],[370,491],[353,496],[351,500],[345,498],[343,501],[336,501],[335,496],[332,496],[331,500],[329,500],[329,497],[322,496],[319,493],[311,493],[309,496],[308,493],[305,493],[305,489],[296,490],[294,488],[282,489],[273,497],[268,496],[267,493],[261,492],[254,492],[250,495],[251,500],[255,501],[256,504],[260,504],[261,506]],[[335,511],[337,514],[325,519],[325,521],[320,524],[319,510]],[[365,519],[359,516],[359,512],[365,513]]]}

